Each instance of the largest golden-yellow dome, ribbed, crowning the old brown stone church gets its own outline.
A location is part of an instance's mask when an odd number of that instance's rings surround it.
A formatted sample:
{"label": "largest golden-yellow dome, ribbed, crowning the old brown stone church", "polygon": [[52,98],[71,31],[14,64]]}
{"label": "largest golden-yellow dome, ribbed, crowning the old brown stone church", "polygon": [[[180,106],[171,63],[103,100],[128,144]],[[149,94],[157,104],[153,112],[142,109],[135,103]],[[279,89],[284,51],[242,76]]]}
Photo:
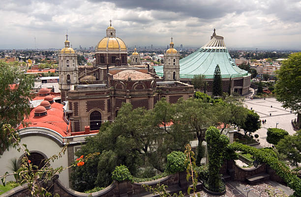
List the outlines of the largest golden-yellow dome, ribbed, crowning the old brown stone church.
{"label": "largest golden-yellow dome, ribbed, crowning the old brown stone church", "polygon": [[96,51],[126,51],[124,42],[118,37],[104,37],[97,45]]}

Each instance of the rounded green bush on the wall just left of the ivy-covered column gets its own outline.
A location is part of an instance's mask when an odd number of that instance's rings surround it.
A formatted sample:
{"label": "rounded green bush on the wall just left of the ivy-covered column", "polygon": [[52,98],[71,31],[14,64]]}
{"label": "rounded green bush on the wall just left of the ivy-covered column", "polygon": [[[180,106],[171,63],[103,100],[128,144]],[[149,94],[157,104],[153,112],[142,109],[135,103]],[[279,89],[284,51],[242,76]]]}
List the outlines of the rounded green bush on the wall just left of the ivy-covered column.
{"label": "rounded green bush on the wall just left of the ivy-covered column", "polygon": [[185,154],[180,151],[173,151],[167,155],[166,171],[171,174],[184,171],[186,169],[184,163]]}

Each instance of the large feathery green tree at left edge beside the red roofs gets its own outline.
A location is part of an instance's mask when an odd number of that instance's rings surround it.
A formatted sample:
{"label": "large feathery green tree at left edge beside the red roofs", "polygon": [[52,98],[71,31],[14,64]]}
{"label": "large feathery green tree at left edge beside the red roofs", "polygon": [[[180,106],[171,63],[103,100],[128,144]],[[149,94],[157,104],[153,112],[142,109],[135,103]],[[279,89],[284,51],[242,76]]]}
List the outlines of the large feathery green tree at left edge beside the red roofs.
{"label": "large feathery green tree at left edge beside the red roofs", "polygon": [[13,142],[3,124],[17,128],[30,113],[31,89],[34,78],[20,71],[19,63],[0,61],[0,153]]}

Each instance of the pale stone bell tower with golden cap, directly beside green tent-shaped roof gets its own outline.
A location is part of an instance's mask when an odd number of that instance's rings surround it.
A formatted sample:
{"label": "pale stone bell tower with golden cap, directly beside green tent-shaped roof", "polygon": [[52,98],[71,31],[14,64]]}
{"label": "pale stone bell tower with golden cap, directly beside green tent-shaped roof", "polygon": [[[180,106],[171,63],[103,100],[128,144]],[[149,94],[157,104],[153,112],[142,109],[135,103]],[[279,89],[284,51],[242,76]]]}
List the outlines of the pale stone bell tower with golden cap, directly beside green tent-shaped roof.
{"label": "pale stone bell tower with golden cap, directly beside green tent-shaped roof", "polygon": [[164,81],[180,81],[180,54],[174,48],[173,37],[169,49],[164,54]]}

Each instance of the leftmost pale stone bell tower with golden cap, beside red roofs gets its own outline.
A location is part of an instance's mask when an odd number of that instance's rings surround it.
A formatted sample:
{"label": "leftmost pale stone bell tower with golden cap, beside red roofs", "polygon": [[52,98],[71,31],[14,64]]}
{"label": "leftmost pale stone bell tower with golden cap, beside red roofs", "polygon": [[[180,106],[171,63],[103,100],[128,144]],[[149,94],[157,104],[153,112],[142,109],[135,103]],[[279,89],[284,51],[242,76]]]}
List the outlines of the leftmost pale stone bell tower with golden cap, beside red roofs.
{"label": "leftmost pale stone bell tower with golden cap, beside red roofs", "polygon": [[70,47],[68,34],[66,34],[65,47],[59,53],[59,85],[61,102],[65,101],[68,91],[78,84],[77,54]]}

